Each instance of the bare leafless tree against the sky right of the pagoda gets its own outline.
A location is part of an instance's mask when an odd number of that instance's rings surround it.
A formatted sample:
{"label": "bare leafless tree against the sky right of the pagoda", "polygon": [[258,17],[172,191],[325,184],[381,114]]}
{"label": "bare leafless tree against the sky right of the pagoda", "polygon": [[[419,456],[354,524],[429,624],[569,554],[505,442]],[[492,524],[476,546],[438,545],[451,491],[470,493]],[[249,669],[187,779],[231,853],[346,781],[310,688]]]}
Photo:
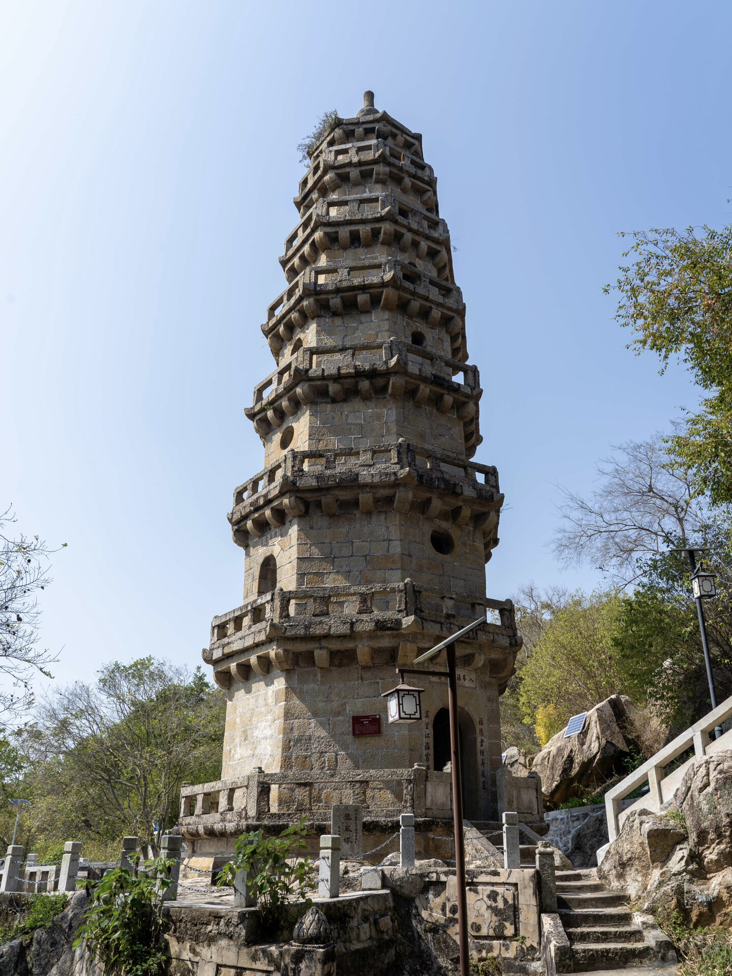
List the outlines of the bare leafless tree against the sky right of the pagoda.
{"label": "bare leafless tree against the sky right of the pagoda", "polygon": [[589,497],[557,485],[564,524],[552,549],[568,564],[592,562],[626,587],[638,578],[639,557],[698,545],[714,512],[662,433],[614,445],[613,452],[597,464],[599,484]]}

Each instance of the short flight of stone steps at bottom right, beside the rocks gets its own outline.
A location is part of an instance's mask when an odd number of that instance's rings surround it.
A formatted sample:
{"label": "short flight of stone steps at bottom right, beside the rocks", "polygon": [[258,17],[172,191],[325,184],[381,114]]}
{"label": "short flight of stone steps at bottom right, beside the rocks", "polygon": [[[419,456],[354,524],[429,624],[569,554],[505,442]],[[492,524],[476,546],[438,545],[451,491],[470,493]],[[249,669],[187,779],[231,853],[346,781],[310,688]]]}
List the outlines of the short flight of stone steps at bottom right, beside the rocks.
{"label": "short flight of stone steps at bottom right, beside the rocks", "polygon": [[576,973],[676,961],[671,940],[650,917],[630,911],[624,892],[608,891],[595,869],[557,871],[556,896]]}

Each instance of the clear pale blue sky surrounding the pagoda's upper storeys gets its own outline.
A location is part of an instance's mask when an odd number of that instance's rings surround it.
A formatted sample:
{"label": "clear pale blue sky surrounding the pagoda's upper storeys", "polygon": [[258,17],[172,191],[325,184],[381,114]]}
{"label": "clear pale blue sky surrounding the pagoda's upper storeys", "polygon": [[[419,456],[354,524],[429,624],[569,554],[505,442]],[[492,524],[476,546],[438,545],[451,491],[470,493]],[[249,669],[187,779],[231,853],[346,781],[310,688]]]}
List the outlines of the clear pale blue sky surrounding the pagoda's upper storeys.
{"label": "clear pale blue sky surrounding the pagoda's upper storeys", "polygon": [[0,7],[0,503],[68,544],[61,680],[194,667],[240,601],[225,512],[297,223],[296,145],[364,89],[424,134],[509,510],[488,591],[592,588],[552,485],[696,401],[613,322],[621,229],[726,224],[732,5],[46,0]]}

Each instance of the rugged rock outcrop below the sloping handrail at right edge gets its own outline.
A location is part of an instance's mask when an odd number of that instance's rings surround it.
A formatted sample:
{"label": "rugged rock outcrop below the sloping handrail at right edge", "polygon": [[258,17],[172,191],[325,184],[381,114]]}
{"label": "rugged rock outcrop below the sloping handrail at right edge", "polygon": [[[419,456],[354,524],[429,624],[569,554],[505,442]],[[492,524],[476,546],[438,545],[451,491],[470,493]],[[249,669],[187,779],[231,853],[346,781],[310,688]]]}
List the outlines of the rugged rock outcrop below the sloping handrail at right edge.
{"label": "rugged rock outcrop below the sloping handrail at right edge", "polygon": [[661,814],[633,811],[597,876],[654,913],[732,923],[732,752],[693,762]]}

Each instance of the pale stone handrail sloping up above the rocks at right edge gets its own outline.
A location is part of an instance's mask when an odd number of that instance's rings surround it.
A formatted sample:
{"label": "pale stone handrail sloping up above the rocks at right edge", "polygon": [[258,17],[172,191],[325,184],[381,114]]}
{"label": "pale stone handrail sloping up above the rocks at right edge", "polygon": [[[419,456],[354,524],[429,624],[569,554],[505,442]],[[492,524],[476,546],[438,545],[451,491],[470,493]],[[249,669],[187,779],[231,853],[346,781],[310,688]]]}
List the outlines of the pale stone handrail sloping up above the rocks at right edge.
{"label": "pale stone handrail sloping up above the rocks at right edge", "polygon": [[[732,696],[725,699],[704,718],[691,725],[685,732],[665,746],[654,756],[634,769],[629,776],[622,780],[612,790],[605,793],[605,813],[607,816],[607,832],[612,842],[620,831],[620,816],[628,816],[630,810],[642,808],[651,813],[658,813],[662,803],[671,796],[681,783],[688,766],[700,755],[732,749],[732,729],[725,732],[719,739],[710,742],[709,733],[712,729],[732,715]],[[687,749],[694,747],[694,756],[681,766],[674,769],[669,776],[664,776],[664,769]],[[623,799],[644,783],[648,783],[649,791],[646,796],[636,800],[632,806],[623,809]]]}

